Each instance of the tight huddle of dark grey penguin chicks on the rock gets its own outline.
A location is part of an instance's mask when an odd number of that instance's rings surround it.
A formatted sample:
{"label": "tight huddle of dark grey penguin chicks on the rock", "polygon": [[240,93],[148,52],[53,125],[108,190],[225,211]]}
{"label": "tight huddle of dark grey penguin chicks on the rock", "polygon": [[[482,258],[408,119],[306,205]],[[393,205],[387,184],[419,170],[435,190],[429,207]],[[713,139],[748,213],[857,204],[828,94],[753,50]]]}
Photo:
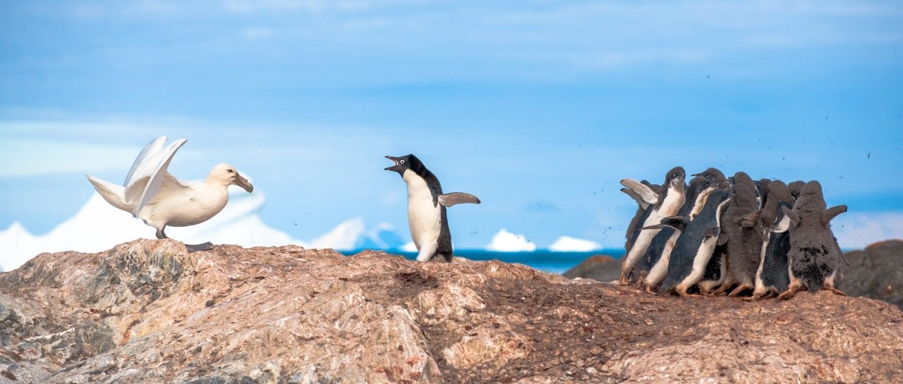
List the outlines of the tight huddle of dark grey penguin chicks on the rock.
{"label": "tight huddle of dark grey penguin chicks on the rock", "polygon": [[628,226],[621,284],[680,296],[739,296],[751,300],[797,291],[831,290],[841,251],[831,220],[846,206],[827,208],[818,181],[730,179],[718,169],[666,174],[662,187],[621,180],[638,203]]}

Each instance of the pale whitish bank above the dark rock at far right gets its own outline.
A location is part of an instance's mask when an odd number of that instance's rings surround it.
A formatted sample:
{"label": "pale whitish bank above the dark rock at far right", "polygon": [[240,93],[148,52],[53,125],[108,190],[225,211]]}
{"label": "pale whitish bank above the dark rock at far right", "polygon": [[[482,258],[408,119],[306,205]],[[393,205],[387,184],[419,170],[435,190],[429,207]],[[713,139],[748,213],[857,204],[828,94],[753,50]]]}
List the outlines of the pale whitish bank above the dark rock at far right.
{"label": "pale whitish bank above the dark rock at far right", "polygon": [[837,216],[831,229],[843,249],[862,249],[873,242],[903,239],[903,212],[851,212]]}

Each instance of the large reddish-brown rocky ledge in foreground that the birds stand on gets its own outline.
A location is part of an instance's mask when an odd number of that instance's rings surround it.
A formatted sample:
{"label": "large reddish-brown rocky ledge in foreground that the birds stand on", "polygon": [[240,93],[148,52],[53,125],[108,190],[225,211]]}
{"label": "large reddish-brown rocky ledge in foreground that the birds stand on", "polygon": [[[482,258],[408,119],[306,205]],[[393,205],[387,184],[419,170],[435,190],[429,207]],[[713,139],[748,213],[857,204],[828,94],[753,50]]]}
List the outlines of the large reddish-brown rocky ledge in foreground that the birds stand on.
{"label": "large reddish-brown rocky ledge in foreground that the birds stand on", "polygon": [[0,383],[903,382],[903,313],[499,261],[139,240],[0,274]]}

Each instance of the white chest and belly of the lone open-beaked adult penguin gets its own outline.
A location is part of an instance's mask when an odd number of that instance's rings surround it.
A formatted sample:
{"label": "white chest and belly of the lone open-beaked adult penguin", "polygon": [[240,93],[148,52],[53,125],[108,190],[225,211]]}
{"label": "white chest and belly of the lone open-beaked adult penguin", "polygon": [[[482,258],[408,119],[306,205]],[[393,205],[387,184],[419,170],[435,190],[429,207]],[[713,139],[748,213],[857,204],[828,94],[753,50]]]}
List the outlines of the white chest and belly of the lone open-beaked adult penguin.
{"label": "white chest and belly of the lone open-beaked adult penguin", "polygon": [[442,206],[433,205],[433,193],[426,180],[411,170],[402,176],[407,184],[407,224],[411,239],[419,250],[421,245],[436,242],[442,230]]}

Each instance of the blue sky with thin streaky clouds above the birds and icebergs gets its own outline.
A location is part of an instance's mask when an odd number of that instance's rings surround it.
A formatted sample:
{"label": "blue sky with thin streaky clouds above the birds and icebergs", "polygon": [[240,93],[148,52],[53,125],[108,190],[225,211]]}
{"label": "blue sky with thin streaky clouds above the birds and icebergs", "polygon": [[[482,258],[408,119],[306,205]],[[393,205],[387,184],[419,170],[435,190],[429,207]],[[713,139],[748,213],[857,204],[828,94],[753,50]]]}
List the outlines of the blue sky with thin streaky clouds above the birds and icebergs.
{"label": "blue sky with thin streaky clouds above the birds and icebergs", "polygon": [[903,224],[898,2],[184,3],[0,7],[0,229],[51,230],[163,134],[189,139],[174,175],[232,163],[299,239],[405,233],[382,169],[411,152],[483,201],[449,210],[459,248],[622,244],[619,179],[675,165]]}

